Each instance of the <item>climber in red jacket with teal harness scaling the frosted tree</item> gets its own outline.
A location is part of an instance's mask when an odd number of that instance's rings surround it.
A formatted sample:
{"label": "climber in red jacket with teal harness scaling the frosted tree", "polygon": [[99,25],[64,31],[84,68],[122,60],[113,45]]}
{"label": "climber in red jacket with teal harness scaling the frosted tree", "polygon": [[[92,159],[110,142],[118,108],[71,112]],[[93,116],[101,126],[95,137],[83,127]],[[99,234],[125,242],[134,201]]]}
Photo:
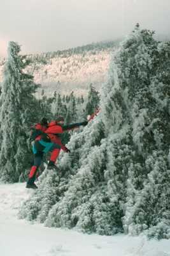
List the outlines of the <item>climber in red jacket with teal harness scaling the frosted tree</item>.
{"label": "climber in red jacket with teal harness scaling the frosted tree", "polygon": [[64,118],[62,117],[48,123],[48,120],[44,117],[41,119],[41,122],[32,127],[31,140],[32,151],[34,153],[34,164],[29,172],[29,179],[27,180],[26,188],[38,188],[34,181],[44,153],[51,152],[48,169],[57,170],[55,161],[60,154],[60,149],[64,150],[64,152],[70,152],[70,150],[62,144],[59,134],[87,124],[88,121],[64,125]]}

